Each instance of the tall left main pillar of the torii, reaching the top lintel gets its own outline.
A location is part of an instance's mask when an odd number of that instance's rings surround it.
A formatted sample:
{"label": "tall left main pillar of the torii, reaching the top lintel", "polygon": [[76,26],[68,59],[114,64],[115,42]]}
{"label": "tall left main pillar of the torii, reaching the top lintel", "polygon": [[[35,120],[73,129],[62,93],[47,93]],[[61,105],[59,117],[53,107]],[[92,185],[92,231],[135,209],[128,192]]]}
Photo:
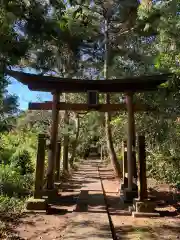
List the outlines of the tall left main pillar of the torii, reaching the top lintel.
{"label": "tall left main pillar of the torii, reaching the top lintel", "polygon": [[52,127],[50,136],[50,149],[48,159],[48,173],[47,173],[47,189],[54,189],[54,172],[55,172],[55,156],[56,156],[56,143],[58,137],[58,102],[60,99],[59,93],[53,94],[52,106]]}

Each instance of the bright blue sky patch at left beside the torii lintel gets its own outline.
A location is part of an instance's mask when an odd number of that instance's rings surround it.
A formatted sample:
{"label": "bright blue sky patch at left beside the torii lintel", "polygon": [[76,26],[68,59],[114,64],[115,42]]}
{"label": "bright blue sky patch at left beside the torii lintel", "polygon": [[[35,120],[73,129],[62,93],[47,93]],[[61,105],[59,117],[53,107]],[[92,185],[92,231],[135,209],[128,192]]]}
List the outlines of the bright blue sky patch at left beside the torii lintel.
{"label": "bright blue sky patch at left beside the torii lintel", "polygon": [[[36,73],[33,70],[25,69],[25,72],[28,73]],[[9,79],[10,84],[8,86],[8,92],[10,94],[16,94],[19,98],[19,107],[22,110],[28,109],[29,102],[40,102],[40,101],[48,101],[51,100],[51,94],[46,92],[35,92],[30,91],[27,86],[18,82],[14,78]]]}

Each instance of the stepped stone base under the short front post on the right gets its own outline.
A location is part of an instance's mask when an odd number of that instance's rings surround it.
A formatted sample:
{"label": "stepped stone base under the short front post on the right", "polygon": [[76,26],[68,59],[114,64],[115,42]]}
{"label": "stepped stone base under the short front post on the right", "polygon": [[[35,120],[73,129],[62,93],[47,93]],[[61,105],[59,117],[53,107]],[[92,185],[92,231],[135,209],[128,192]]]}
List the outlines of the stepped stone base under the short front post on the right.
{"label": "stepped stone base under the short front post on the right", "polygon": [[133,200],[133,217],[159,217],[160,214],[155,212],[156,202],[145,199],[140,201],[139,199]]}

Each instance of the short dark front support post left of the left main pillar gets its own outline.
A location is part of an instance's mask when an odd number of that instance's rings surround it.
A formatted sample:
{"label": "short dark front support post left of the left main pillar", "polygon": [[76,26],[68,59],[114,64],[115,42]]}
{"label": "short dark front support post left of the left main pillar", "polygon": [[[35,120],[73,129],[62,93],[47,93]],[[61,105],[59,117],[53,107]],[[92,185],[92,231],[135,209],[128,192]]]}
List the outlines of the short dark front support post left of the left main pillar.
{"label": "short dark front support post left of the left main pillar", "polygon": [[36,174],[35,174],[35,190],[34,198],[42,197],[42,189],[44,182],[44,164],[45,164],[45,149],[46,149],[46,138],[44,134],[38,136],[38,150],[36,160]]}

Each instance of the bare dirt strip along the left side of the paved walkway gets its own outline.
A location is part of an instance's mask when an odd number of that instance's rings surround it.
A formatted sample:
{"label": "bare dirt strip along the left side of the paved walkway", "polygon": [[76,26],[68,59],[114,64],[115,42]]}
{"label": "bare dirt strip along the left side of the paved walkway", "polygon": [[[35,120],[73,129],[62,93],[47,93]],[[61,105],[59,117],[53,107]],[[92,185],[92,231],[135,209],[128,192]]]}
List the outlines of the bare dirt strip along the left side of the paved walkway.
{"label": "bare dirt strip along the left side of the paved walkway", "polygon": [[81,169],[73,173],[71,179],[60,185],[60,196],[55,201],[51,201],[48,214],[25,213],[14,229],[14,235],[19,236],[21,240],[61,239],[64,229],[72,218],[84,181],[85,174]]}

